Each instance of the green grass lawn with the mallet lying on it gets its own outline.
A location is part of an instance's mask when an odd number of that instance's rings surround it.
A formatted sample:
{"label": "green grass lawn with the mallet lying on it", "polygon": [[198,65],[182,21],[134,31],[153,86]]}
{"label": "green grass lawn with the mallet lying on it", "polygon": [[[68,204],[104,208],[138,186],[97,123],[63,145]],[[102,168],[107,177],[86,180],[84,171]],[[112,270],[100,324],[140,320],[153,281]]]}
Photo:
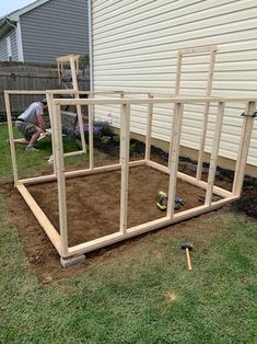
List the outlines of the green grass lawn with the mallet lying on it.
{"label": "green grass lawn with the mallet lying on it", "polygon": [[[12,174],[5,138],[0,125],[1,182]],[[33,154],[19,147],[22,174],[48,168],[44,145]],[[43,284],[0,194],[0,343],[257,343],[257,223],[230,211],[188,223]],[[178,249],[188,239],[191,272]]]}

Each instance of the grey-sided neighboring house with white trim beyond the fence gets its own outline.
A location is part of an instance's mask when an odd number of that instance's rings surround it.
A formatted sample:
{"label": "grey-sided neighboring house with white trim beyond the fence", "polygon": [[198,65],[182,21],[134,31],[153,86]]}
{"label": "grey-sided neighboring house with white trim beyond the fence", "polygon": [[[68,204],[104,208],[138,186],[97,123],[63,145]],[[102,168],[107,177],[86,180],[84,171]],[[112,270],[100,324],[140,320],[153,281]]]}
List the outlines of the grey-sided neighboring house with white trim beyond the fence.
{"label": "grey-sided neighboring house with white trim beyond the fence", "polygon": [[37,0],[0,19],[0,60],[89,54],[87,0]]}

